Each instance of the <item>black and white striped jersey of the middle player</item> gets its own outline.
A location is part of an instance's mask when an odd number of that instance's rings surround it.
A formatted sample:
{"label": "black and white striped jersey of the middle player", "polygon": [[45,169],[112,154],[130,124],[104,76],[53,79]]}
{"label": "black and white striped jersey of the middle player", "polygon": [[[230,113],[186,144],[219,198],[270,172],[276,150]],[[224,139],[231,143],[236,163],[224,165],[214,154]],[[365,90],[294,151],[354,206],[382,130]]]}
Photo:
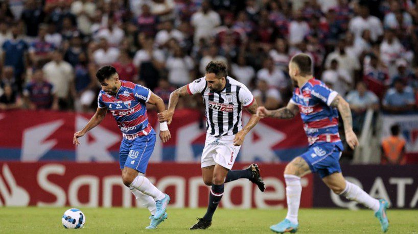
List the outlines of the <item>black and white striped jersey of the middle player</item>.
{"label": "black and white striped jersey of the middle player", "polygon": [[237,134],[242,129],[242,107],[249,107],[254,102],[248,88],[229,76],[222,91],[210,90],[205,77],[190,83],[187,91],[190,95],[203,95],[207,134],[215,137]]}

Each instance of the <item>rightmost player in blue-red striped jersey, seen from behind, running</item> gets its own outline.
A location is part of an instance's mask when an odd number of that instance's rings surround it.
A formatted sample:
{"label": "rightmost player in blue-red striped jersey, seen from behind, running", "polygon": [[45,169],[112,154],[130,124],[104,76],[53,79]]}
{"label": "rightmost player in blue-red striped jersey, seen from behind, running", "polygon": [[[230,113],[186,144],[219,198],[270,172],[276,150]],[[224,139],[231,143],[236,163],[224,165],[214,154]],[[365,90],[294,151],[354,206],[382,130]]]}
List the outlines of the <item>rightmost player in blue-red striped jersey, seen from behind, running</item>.
{"label": "rightmost player in blue-red striped jersey, seen from behind, running", "polygon": [[257,114],[261,118],[289,119],[300,113],[308,136],[309,149],[286,166],[284,177],[288,213],[286,219],[272,225],[270,229],[278,233],[297,231],[299,226],[297,213],[302,191],[300,177],[313,172],[318,173],[334,193],[355,200],[373,210],[381,223],[382,230],[387,231],[389,226],[386,217],[387,201],[371,197],[357,185],[346,181],[341,173],[339,158],[343,146],[338,134],[338,111],[344,122],[347,143],[353,149],[359,144],[353,132],[349,104],[337,92],[313,77],[312,61],[306,54],[298,54],[291,59],[289,75],[295,91],[288,105],[274,111],[259,107]]}

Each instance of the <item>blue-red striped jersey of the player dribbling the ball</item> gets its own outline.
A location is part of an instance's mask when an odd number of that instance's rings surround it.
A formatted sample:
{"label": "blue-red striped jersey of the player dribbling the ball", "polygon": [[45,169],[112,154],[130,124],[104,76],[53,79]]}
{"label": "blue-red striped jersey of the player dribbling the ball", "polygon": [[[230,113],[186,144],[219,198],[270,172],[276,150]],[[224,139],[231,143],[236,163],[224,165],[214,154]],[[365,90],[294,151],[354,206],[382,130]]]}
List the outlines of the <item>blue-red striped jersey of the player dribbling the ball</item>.
{"label": "blue-red striped jersey of the player dribbling the ball", "polygon": [[107,108],[115,118],[124,138],[132,140],[152,132],[148,122],[145,103],[151,97],[151,91],[132,82],[121,81],[122,86],[115,96],[99,93],[99,108]]}

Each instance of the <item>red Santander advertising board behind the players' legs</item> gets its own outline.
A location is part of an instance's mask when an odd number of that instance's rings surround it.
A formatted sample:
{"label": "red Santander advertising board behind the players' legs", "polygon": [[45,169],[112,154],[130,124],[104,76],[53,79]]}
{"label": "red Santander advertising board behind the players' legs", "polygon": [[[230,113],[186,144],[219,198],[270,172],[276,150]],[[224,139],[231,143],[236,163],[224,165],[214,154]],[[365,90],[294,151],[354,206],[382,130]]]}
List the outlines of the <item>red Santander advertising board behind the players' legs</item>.
{"label": "red Santander advertising board behind the players' legs", "polygon": [[[236,164],[234,169],[247,165]],[[221,206],[226,208],[286,207],[285,165],[260,165],[266,183],[262,193],[248,179],[225,184]],[[0,206],[139,206],[122,184],[116,163],[0,162]],[[171,207],[204,207],[210,187],[203,184],[200,164],[154,163],[147,177],[171,196]],[[301,180],[301,207],[312,207],[313,178]]]}

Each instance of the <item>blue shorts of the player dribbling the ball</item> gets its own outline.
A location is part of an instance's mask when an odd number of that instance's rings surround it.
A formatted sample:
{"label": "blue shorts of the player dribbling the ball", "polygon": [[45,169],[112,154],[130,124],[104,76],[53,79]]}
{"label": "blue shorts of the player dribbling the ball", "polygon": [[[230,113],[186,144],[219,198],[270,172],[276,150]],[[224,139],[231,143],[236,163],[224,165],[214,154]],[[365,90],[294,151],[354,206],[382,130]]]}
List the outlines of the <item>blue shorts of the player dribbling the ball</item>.
{"label": "blue shorts of the player dribbling the ball", "polygon": [[121,169],[129,167],[145,174],[148,161],[155,146],[155,132],[133,140],[123,139],[119,149],[119,165]]}

